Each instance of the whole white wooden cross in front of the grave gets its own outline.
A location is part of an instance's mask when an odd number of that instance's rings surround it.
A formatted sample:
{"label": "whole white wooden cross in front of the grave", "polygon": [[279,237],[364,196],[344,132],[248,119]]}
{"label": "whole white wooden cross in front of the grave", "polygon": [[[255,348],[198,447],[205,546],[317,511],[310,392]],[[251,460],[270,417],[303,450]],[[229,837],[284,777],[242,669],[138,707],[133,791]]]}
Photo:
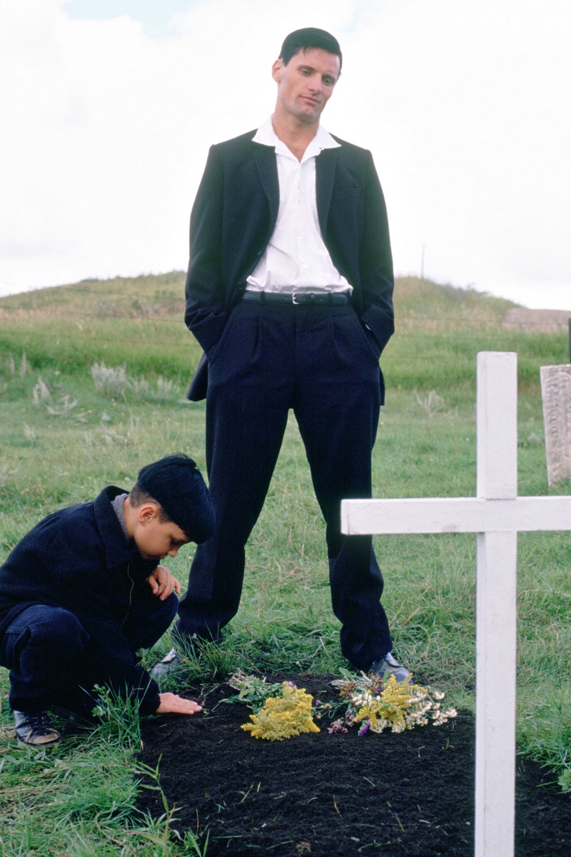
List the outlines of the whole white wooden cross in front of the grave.
{"label": "whole white wooden cross in front of the grave", "polygon": [[517,533],[571,530],[571,497],[517,496],[517,355],[478,355],[476,497],[343,500],[348,536],[477,533],[476,857],[513,857]]}

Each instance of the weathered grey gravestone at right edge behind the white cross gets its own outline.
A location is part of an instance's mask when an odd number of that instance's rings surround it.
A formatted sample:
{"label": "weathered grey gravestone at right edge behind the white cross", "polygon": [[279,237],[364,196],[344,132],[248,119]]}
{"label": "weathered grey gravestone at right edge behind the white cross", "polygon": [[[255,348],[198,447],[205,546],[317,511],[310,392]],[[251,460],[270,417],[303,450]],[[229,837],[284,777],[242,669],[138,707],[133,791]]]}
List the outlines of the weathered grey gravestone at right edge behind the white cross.
{"label": "weathered grey gravestone at right edge behind the white cross", "polygon": [[571,479],[571,365],[542,366],[547,481]]}

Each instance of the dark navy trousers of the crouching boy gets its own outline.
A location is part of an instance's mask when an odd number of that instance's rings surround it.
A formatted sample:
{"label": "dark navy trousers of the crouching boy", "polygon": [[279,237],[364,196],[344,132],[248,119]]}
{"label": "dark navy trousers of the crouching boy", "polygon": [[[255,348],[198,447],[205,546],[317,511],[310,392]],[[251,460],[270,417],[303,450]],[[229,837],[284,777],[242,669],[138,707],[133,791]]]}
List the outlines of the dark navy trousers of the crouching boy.
{"label": "dark navy trousers of the crouching boy", "polygon": [[[129,648],[150,649],[175,618],[175,596],[164,602],[149,596],[132,609],[122,625]],[[95,684],[124,690],[121,669],[114,669],[101,642],[92,645],[77,616],[59,607],[31,604],[8,626],[0,640],[0,663],[9,668],[9,704],[16,711],[46,711],[63,705],[80,713],[93,707]]]}

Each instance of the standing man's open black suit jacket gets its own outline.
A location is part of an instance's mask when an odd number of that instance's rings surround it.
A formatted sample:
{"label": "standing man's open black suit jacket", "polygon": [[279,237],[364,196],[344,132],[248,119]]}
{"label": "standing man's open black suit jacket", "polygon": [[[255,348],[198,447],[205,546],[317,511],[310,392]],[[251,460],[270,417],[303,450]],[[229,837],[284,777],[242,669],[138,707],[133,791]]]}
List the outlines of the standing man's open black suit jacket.
{"label": "standing man's open black suit jacket", "polygon": [[[211,147],[193,205],[185,321],[205,358],[276,225],[276,153],[253,142],[255,133]],[[371,153],[335,139],[340,147],[323,149],[316,163],[319,225],[333,264],[354,288],[351,303],[380,356],[395,330],[383,191]],[[201,360],[189,398],[204,398],[206,367]]]}

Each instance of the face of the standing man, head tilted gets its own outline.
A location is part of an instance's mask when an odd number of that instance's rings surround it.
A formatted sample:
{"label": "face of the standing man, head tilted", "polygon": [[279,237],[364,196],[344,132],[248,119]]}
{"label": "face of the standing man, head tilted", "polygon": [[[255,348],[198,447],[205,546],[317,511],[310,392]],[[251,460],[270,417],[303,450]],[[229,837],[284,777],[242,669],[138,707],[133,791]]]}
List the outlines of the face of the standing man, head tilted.
{"label": "face of the standing man, head tilted", "polygon": [[321,48],[299,51],[287,65],[277,59],[271,69],[277,82],[277,111],[302,123],[315,123],[333,94],[339,57]]}

